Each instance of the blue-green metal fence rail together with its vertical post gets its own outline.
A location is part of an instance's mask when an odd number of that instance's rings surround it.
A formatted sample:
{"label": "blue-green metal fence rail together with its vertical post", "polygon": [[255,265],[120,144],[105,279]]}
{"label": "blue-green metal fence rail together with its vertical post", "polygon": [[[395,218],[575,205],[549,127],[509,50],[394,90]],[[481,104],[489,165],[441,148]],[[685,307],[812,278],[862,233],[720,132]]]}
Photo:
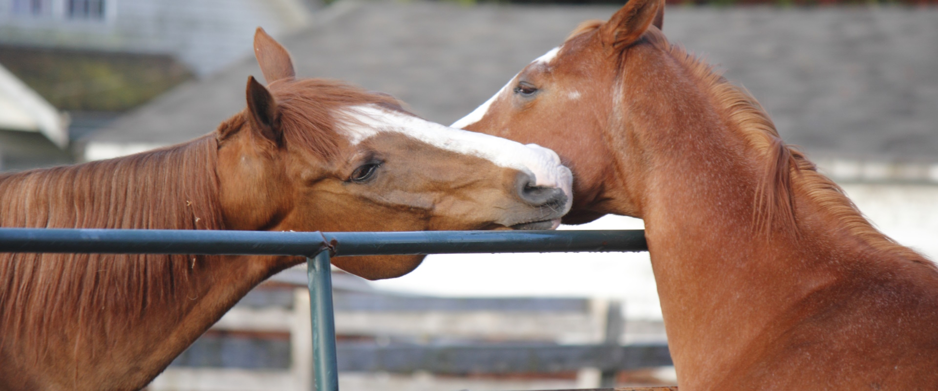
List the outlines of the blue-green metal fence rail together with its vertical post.
{"label": "blue-green metal fence rail together with its vertical post", "polygon": [[641,230],[271,233],[0,228],[0,252],[307,257],[316,388],[338,391],[330,258],[351,255],[645,251]]}

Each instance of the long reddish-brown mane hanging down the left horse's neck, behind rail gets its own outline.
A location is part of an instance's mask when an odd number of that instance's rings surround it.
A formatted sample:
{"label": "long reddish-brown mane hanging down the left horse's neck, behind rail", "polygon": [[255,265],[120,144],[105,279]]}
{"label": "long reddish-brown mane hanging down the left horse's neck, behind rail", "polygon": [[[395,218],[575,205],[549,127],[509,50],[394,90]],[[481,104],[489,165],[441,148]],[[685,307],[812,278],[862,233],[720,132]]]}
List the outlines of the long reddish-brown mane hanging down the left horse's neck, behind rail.
{"label": "long reddish-brown mane hanging down the left horse's neck, behind rail", "polygon": [[[0,226],[223,229],[217,149],[209,134],[124,158],[0,175]],[[205,258],[0,253],[0,347],[48,347],[56,342],[42,340],[46,331],[74,320],[86,327],[69,330],[79,335],[129,327],[148,306],[176,300],[174,286],[185,286]]]}

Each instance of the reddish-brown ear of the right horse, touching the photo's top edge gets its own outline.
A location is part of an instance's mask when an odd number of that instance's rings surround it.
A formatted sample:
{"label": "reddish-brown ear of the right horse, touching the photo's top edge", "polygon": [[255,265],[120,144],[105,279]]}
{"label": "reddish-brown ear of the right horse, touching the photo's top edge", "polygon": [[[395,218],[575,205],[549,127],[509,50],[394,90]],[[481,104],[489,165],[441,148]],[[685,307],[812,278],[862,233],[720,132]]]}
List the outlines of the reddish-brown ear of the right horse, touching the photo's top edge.
{"label": "reddish-brown ear of the right horse, touching the photo's top edge", "polygon": [[[661,3],[661,0],[628,0],[625,6],[613,14],[609,22],[603,24],[603,43],[618,49],[642,38],[648,26],[658,20],[658,8],[664,8]],[[659,21],[663,22],[664,15],[660,16]]]}

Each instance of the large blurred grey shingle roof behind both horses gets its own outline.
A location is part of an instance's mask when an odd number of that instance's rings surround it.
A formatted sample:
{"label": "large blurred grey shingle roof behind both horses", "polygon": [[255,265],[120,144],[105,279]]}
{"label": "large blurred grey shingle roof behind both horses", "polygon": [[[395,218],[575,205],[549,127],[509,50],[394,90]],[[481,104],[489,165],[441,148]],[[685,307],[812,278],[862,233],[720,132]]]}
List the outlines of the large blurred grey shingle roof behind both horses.
{"label": "large blurred grey shingle roof behind both horses", "polygon": [[[616,9],[350,1],[280,39],[299,75],[392,94],[444,124],[578,23]],[[668,8],[664,31],[749,88],[786,141],[815,156],[938,161],[938,8]],[[245,106],[248,75],[261,75],[253,58],[176,88],[90,140],[204,134]]]}

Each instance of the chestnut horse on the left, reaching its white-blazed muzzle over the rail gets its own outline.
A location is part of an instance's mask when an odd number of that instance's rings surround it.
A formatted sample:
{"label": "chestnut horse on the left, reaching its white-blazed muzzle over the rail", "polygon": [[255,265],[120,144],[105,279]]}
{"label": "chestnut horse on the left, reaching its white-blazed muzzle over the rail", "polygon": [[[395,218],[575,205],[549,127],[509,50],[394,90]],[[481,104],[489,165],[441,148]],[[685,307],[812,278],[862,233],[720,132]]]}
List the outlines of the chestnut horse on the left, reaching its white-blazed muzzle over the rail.
{"label": "chestnut horse on the left, reaching its white-blazed muzzle over the rail", "polygon": [[[446,128],[394,98],[295,79],[258,30],[269,89],[204,137],[0,175],[0,226],[263,231],[550,229],[570,173],[552,151]],[[421,256],[337,259],[366,278]],[[297,257],[0,254],[0,389],[143,387]]]}

